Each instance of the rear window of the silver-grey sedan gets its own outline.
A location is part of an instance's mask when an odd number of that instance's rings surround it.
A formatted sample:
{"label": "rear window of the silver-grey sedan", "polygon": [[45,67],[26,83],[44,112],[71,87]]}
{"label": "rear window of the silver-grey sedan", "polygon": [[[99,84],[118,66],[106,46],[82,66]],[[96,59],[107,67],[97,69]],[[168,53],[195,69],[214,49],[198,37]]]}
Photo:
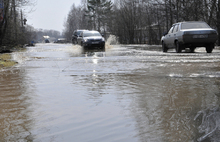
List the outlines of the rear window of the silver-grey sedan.
{"label": "rear window of the silver-grey sedan", "polygon": [[203,29],[203,28],[210,28],[209,25],[203,22],[190,22],[190,23],[183,23],[182,29]]}

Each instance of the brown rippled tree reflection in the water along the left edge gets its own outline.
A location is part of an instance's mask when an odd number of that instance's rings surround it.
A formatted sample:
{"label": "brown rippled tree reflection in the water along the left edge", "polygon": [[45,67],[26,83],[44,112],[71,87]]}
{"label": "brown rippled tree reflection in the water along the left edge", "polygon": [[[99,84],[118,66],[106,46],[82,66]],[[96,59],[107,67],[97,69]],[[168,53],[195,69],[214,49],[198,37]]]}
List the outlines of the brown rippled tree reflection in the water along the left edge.
{"label": "brown rippled tree reflection in the water along the left edge", "polygon": [[31,133],[32,91],[26,84],[24,74],[20,69],[0,73],[0,141],[34,139]]}

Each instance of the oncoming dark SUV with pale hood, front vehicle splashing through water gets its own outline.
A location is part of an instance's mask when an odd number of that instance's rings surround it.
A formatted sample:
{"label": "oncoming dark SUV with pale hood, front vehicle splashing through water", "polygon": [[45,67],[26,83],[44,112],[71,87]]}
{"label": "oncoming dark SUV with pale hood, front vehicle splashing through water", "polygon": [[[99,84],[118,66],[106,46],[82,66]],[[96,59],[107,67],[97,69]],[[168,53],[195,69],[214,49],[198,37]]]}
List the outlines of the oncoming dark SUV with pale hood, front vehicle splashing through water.
{"label": "oncoming dark SUV with pale hood, front vehicle splashing through water", "polygon": [[105,49],[105,38],[98,31],[84,31],[78,38],[78,44],[84,49]]}

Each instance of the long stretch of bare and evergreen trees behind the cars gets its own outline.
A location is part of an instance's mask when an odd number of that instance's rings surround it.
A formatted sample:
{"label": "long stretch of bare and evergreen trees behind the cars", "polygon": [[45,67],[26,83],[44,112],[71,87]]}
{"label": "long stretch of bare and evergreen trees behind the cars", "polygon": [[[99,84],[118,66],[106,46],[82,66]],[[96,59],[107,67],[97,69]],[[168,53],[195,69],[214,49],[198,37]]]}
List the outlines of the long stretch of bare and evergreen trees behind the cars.
{"label": "long stretch of bare and evergreen trees behind the cars", "polygon": [[205,21],[220,33],[220,0],[82,0],[72,5],[64,34],[70,40],[74,30],[89,29],[113,34],[122,44],[160,44],[181,21]]}

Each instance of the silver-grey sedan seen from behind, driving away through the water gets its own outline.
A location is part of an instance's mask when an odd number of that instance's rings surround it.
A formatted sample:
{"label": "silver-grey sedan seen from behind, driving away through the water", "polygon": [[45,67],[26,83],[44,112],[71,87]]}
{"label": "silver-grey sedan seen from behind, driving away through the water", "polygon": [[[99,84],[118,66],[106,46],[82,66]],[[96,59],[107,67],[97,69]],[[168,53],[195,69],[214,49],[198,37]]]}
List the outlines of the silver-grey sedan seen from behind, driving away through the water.
{"label": "silver-grey sedan seen from behind, driving away through the water", "polygon": [[177,53],[181,53],[186,48],[194,52],[196,47],[205,47],[207,53],[212,53],[217,36],[217,31],[205,22],[175,23],[161,38],[162,50],[167,52],[168,49],[175,48]]}

